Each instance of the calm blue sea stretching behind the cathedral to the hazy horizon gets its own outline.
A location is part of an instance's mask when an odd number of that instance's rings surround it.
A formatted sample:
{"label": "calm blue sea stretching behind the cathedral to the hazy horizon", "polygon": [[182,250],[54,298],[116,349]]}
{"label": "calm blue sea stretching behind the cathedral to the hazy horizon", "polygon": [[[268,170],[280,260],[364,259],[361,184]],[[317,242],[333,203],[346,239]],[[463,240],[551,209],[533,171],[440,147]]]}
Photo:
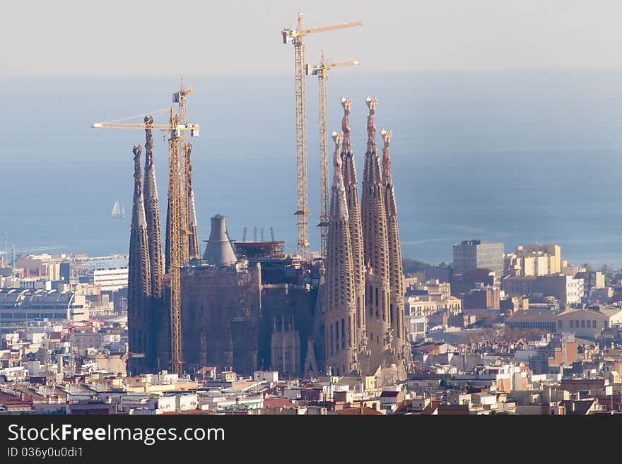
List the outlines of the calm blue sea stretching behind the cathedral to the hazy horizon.
{"label": "calm blue sea stretching behind the cathedral to the hazy horizon", "polygon": [[[233,239],[242,239],[245,226],[250,239],[253,227],[264,227],[267,239],[274,227],[286,251],[294,251],[293,76],[185,78],[194,87],[189,117],[201,125],[201,136],[192,139],[200,239],[220,213]],[[144,133],[90,125],[168,107],[179,76],[0,83],[0,231],[9,246],[127,252],[131,148],[144,144]],[[378,131],[393,131],[404,257],[450,262],[453,244],[481,238],[503,242],[506,251],[556,242],[573,263],[622,266],[622,72],[334,71],[329,121],[338,131],[342,95],[353,99],[359,179],[365,97],[378,98]],[[310,241],[317,250],[317,81],[311,76],[307,145]],[[155,133],[163,217],[166,150],[162,133]],[[110,217],[117,198],[124,220]]]}

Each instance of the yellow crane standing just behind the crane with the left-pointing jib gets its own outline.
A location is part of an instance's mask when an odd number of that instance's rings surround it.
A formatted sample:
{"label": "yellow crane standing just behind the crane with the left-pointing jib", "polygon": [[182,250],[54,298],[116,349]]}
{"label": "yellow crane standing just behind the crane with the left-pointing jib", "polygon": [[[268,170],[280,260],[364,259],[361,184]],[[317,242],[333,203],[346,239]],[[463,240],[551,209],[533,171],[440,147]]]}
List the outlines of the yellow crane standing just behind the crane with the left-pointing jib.
{"label": "yellow crane standing just behind the crane with the left-pointing jib", "polygon": [[[186,88],[184,78],[182,78],[182,85],[179,92],[172,94],[172,102],[179,104],[179,112],[177,113],[179,124],[188,124],[188,110],[187,110],[187,96],[193,93],[194,90]],[[180,225],[182,229],[180,234],[182,242],[180,246],[182,263],[189,261],[189,240],[196,240],[191,237],[192,231],[189,230],[189,195],[190,195],[190,152],[192,151],[192,143],[188,143],[188,137],[186,132],[180,133],[180,153],[183,162],[182,177],[180,179],[181,189],[181,210],[180,210]],[[197,241],[198,248],[198,241]]]}

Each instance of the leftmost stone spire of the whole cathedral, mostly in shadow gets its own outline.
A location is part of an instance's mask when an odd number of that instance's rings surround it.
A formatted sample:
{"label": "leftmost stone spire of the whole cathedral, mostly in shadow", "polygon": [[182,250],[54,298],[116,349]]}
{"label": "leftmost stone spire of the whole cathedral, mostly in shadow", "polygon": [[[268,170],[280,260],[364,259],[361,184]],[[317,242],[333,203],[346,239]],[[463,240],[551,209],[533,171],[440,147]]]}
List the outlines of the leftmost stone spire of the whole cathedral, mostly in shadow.
{"label": "leftmost stone spire of the whole cathedral, mostly in shadow", "polygon": [[153,361],[155,338],[151,330],[151,266],[147,237],[145,203],[141,186],[141,145],[134,146],[134,201],[131,210],[129,263],[127,280],[127,314],[129,351],[143,353],[132,359],[132,373],[145,371]]}

